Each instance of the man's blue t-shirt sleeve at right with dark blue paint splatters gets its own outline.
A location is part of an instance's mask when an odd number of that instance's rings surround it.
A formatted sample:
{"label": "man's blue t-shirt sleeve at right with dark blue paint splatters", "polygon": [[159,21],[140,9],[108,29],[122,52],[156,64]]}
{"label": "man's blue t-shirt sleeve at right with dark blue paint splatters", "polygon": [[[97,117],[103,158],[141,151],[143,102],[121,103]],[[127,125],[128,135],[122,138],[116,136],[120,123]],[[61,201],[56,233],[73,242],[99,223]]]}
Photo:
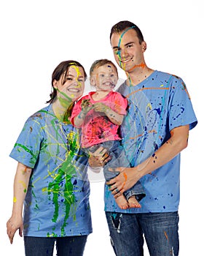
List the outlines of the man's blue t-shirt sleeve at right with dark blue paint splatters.
{"label": "man's blue t-shirt sleeve at right with dark blue paint splatters", "polygon": [[181,78],[172,80],[168,115],[170,130],[187,124],[192,129],[197,124],[187,86]]}

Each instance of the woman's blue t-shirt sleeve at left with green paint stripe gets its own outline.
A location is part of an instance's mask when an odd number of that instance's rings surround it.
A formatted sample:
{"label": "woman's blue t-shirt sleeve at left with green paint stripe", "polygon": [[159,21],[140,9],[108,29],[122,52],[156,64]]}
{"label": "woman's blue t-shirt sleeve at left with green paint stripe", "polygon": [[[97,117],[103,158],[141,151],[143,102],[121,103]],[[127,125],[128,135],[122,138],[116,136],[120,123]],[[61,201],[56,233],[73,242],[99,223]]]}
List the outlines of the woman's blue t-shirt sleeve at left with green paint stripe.
{"label": "woman's blue t-shirt sleeve at left with green paint stripe", "polygon": [[34,168],[42,144],[42,127],[34,118],[28,118],[9,157]]}

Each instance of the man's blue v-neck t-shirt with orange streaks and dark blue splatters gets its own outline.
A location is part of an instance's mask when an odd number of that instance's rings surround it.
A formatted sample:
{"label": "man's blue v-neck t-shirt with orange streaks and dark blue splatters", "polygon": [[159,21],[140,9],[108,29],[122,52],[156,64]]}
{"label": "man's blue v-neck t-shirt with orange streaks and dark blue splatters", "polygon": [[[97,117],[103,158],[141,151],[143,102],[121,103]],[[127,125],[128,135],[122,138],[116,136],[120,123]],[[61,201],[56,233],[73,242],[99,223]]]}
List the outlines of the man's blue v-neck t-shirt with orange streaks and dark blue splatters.
{"label": "man's blue v-neck t-shirt with orange streaks and dark blue splatters", "polygon": [[[137,86],[123,83],[117,91],[127,97],[129,103],[121,134],[132,167],[153,155],[170,138],[170,130],[187,124],[192,129],[197,124],[187,87],[175,75],[154,71]],[[120,209],[105,186],[105,210],[127,213],[177,211],[180,154],[140,181],[146,192],[140,202],[141,208]]]}

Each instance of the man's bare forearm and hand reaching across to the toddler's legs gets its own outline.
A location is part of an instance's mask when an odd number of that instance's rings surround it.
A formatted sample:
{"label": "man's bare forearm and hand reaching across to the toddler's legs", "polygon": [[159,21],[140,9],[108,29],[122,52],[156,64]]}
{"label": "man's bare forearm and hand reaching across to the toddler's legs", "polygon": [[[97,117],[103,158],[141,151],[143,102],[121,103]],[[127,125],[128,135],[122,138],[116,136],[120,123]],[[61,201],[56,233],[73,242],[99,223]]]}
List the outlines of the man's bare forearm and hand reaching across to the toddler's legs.
{"label": "man's bare forearm and hand reaching across to the toddler's legs", "polygon": [[[170,139],[164,143],[153,155],[136,167],[118,167],[119,175],[112,178],[106,184],[111,185],[110,190],[115,197],[119,196],[143,176],[151,173],[153,170],[165,165],[173,157],[176,157],[184,148],[187,147],[189,137],[189,125],[176,127],[170,132]],[[119,190],[119,193],[115,189]],[[116,195],[117,194],[117,195]]]}

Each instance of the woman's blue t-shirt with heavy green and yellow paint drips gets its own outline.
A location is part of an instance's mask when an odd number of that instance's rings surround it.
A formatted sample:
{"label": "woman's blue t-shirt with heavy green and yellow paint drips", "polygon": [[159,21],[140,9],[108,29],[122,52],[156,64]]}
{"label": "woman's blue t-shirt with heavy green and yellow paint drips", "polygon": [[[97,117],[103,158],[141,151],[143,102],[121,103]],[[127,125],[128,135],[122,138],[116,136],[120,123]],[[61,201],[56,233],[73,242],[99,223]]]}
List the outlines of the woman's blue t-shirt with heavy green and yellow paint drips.
{"label": "woman's blue t-shirt with heavy green and yellow paint drips", "polygon": [[87,158],[79,146],[79,130],[58,121],[52,105],[26,121],[10,154],[33,169],[24,202],[24,236],[92,232]]}

